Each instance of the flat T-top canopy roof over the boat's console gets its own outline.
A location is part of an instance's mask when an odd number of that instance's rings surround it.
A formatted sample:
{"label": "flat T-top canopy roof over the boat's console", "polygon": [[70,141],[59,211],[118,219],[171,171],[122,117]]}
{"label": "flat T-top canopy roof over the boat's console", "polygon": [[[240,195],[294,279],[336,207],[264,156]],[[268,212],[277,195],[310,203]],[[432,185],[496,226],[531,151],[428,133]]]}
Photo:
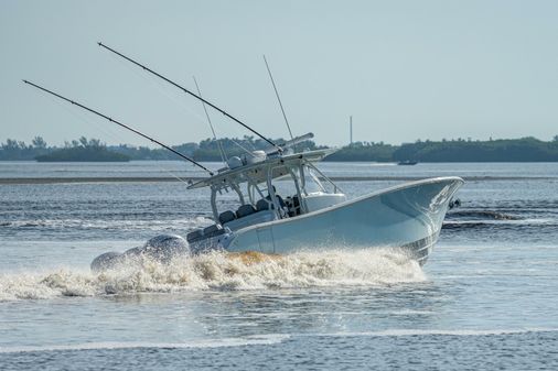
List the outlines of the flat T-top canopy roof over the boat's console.
{"label": "flat T-top canopy roof over the boat's console", "polygon": [[281,177],[289,174],[287,166],[296,166],[303,162],[319,162],[335,151],[336,149],[324,149],[267,157],[261,162],[229,168],[217,175],[198,181],[187,188],[215,187],[218,190],[248,181],[255,182],[256,184],[262,183],[266,182],[270,167],[272,168],[271,178]]}

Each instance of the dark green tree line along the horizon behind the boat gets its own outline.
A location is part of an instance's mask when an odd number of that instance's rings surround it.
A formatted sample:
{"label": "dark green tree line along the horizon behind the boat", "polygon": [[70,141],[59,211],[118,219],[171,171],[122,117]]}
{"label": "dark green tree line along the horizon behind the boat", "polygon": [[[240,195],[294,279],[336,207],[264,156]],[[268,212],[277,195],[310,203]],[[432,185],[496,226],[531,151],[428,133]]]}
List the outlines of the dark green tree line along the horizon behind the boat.
{"label": "dark green tree line along the horizon behind the boat", "polygon": [[[282,139],[275,140],[277,143]],[[265,150],[269,144],[250,135],[202,140],[200,143],[183,143],[173,149],[196,161],[221,161],[223,148],[226,156]],[[297,144],[296,151],[316,150],[325,146],[307,140]],[[129,160],[178,160],[164,149],[150,149],[128,144],[107,145],[98,139],[82,137],[63,146],[50,146],[41,137],[30,144],[8,139],[0,144],[0,160],[37,161],[129,161]],[[375,162],[556,162],[558,161],[558,135],[545,142],[533,137],[472,141],[463,139],[421,141],[400,145],[384,142],[355,142],[341,148],[325,161],[375,161]]]}

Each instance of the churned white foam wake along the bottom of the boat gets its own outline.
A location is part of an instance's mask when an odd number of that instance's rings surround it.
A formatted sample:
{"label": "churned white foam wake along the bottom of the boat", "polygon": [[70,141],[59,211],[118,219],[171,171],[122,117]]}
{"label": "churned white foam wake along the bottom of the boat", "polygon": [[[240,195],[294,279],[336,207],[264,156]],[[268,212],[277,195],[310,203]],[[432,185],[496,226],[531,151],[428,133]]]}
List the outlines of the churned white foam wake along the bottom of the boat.
{"label": "churned white foam wake along the bottom of the boat", "polygon": [[419,264],[394,249],[289,255],[214,251],[164,264],[137,257],[103,273],[60,269],[0,274],[0,301],[198,290],[390,285],[422,282]]}

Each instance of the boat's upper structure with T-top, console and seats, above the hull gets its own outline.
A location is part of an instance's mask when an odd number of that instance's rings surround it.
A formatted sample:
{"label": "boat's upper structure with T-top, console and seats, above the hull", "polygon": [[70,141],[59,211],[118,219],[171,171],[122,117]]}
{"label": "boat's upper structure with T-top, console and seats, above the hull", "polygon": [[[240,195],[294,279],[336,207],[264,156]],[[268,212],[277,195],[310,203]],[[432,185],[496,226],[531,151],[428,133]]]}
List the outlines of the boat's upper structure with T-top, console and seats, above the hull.
{"label": "boat's upper structure with T-top, console and seats, above the hull", "polygon": [[[195,243],[217,237],[214,240],[218,242],[222,239],[219,236],[227,231],[235,232],[273,220],[297,218],[345,201],[346,197],[339,187],[312,164],[331,152],[332,150],[318,150],[266,156],[266,153],[258,151],[254,157],[230,157],[227,162],[228,170],[224,168],[190,186],[211,188],[215,225],[190,232],[187,241]],[[328,185],[324,186],[320,178],[325,179]],[[281,182],[276,183],[277,181]],[[275,185],[285,186],[287,181],[291,181],[291,190],[283,199]],[[230,192],[238,196],[239,207],[218,212],[217,197]]]}

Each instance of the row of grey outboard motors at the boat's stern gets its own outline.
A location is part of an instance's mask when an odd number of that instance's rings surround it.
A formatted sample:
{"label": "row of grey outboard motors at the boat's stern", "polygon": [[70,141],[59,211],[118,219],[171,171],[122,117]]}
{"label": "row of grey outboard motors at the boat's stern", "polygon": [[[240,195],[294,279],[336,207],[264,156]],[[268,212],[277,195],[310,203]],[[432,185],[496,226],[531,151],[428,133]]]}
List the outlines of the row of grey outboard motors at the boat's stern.
{"label": "row of grey outboard motors at the boat's stern", "polygon": [[142,247],[119,252],[105,252],[92,262],[92,271],[99,272],[116,268],[126,261],[139,257],[149,257],[161,263],[169,263],[178,255],[190,255],[190,245],[186,240],[176,234],[160,234],[148,240]]}

